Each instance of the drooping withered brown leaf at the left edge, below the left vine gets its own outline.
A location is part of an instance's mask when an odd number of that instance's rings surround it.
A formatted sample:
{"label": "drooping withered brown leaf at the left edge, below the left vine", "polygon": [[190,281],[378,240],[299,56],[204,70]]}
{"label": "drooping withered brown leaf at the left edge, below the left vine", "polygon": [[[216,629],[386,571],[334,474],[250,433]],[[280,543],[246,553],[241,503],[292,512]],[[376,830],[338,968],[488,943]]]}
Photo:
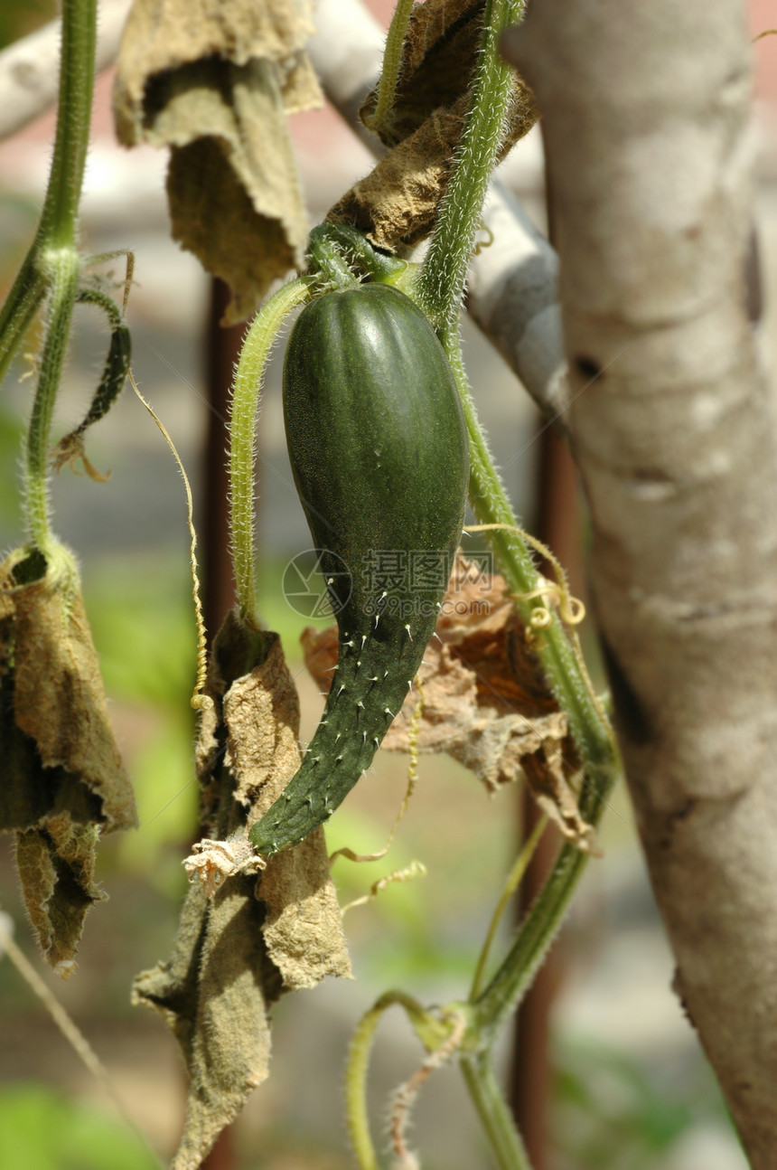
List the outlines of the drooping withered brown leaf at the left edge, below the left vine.
{"label": "drooping withered brown leaf at the left edge, below the left vine", "polygon": [[[30,579],[33,578],[33,579]],[[74,558],[19,549],[0,565],[0,830],[43,955],[70,972],[99,832],[137,825]]]}

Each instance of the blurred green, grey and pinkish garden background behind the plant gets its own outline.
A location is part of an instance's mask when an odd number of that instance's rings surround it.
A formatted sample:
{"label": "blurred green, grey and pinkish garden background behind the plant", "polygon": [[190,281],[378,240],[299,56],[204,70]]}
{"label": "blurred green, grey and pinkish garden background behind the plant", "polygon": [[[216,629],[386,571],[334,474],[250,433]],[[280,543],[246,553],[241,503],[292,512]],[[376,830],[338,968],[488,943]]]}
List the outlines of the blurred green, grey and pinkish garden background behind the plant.
{"label": "blurred green, grey and pinkish garden background behind the plant", "polygon": [[[382,21],[387,2],[369,4]],[[770,0],[751,2],[754,35],[775,22]],[[6,2],[0,48],[53,19],[47,0]],[[692,47],[689,47],[692,50]],[[773,337],[777,287],[777,37],[754,43],[757,104],[758,220],[764,282],[771,292],[765,332]],[[203,498],[208,424],[208,355],[213,298],[197,261],[168,235],[166,157],[116,145],[110,116],[111,70],[97,87],[93,144],[82,233],[90,253],[131,248],[136,257],[129,321],[133,367],[171,432],[192,481],[197,519]],[[370,158],[328,109],[292,118],[311,225]],[[0,143],[0,295],[35,229],[54,136],[51,111]],[[502,167],[502,177],[542,226],[542,147],[534,132]],[[123,263],[116,261],[117,276]],[[57,415],[57,434],[82,418],[99,378],[107,336],[99,315],[79,308]],[[465,324],[465,357],[498,464],[529,526],[540,511],[541,468],[534,408],[514,376]],[[222,355],[223,358],[223,355]],[[308,548],[293,490],[280,412],[280,355],[268,377],[259,425],[259,608],[283,639],[310,738],[322,700],[301,667],[299,633],[308,624],[285,603],[284,566]],[[0,544],[23,541],[19,456],[29,408],[26,363],[0,401]],[[512,456],[530,443],[520,460]],[[196,833],[194,618],[188,577],[183,487],[153,421],[132,391],[89,433],[88,454],[110,481],[64,470],[53,487],[56,530],[77,553],[100,654],[111,715],[134,784],[140,828],[106,838],[99,878],[110,902],[88,917],[79,970],[67,984],[36,955],[15,888],[12,849],[0,839],[0,907],[44,982],[77,1020],[107,1066],[117,1093],[152,1145],[169,1157],[182,1121],[185,1082],[176,1046],[161,1020],[130,1006],[139,970],[169,955],[185,893],[181,859]],[[582,514],[581,514],[582,516]],[[582,544],[583,521],[574,534]],[[220,544],[221,542],[221,544]],[[226,531],[210,532],[210,555]],[[563,556],[563,553],[562,553]],[[582,586],[581,586],[582,587]],[[380,752],[372,773],[334,818],[331,848],[380,848],[407,780],[407,759]],[[491,910],[512,863],[522,801],[516,791],[490,798],[446,757],[422,757],[421,783],[386,861],[339,860],[341,901],[366,893],[383,873],[419,859],[428,876],[395,885],[346,917],[355,983],[328,980],[287,997],[275,1010],[271,1078],[220,1143],[211,1170],[340,1170],[349,1165],[342,1124],[342,1071],[348,1038],[377,994],[396,986],[432,1004],[463,996]],[[553,1000],[550,1099],[521,1108],[547,1113],[547,1170],[743,1170],[747,1163],[687,1020],[671,990],[672,958],[652,901],[625,791],[616,792],[602,826],[605,856],[592,862],[553,952],[546,1000]],[[537,1007],[537,1011],[544,1009]],[[506,1075],[512,1035],[505,1037]],[[379,1033],[373,1102],[376,1126],[390,1090],[422,1059],[409,1027],[390,1014]],[[530,1072],[529,1072],[530,1079]],[[520,1080],[520,1076],[519,1076]],[[528,1104],[527,1104],[528,1102]],[[0,1170],[145,1170],[147,1150],[118,1117],[28,986],[0,958]],[[488,1156],[456,1068],[424,1089],[412,1142],[426,1170],[473,1170]],[[536,1170],[541,1170],[537,1161]]]}

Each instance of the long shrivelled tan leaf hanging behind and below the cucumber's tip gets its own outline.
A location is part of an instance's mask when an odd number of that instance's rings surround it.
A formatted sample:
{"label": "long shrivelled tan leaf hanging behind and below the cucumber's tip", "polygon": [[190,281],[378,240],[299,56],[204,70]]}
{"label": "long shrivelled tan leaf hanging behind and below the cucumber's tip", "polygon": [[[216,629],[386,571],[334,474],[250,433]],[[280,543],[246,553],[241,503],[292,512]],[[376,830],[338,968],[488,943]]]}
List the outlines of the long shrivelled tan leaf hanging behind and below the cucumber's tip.
{"label": "long shrivelled tan leaf hanging behind and below the cucumber's tip", "polygon": [[[187,868],[173,955],[139,975],[134,1002],[173,1030],[189,1071],[174,1170],[194,1170],[268,1075],[269,1009],[285,991],[351,975],[321,830],[257,875],[248,826],[299,768],[299,701],[276,634],[230,615],[210,662],[197,742],[210,840]],[[228,876],[223,876],[228,874]],[[209,896],[210,895],[210,896]]]}

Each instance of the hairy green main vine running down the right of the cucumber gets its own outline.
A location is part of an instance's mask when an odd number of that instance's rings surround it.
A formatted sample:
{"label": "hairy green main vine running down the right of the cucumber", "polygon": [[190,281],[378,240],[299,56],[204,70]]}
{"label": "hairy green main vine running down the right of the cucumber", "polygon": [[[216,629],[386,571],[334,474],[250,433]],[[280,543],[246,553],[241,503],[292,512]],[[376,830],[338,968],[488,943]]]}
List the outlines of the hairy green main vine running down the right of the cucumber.
{"label": "hairy green main vine running down the right of the cucumber", "polygon": [[[397,78],[398,49],[410,7],[403,0],[397,5],[374,118],[379,117],[379,111],[380,118],[384,118],[390,109]],[[429,252],[418,270],[405,274],[404,287],[435,324],[453,371],[470,436],[470,502],[486,531],[516,607],[527,628],[530,628],[533,617],[539,615],[537,611],[546,605],[543,591],[540,589],[532,549],[520,535],[516,517],[477,419],[462,357],[458,326],[467,266],[504,136],[508,106],[511,70],[499,56],[499,37],[508,25],[521,20],[523,7],[523,0],[486,0],[481,50],[464,135]],[[318,261],[319,269],[326,273],[328,287],[333,287],[333,283],[342,287],[347,281],[342,271],[344,264],[349,267],[352,278],[356,274],[379,281],[387,278],[386,273],[375,268],[375,264],[382,263],[382,257],[375,257],[379,254],[370,253],[363,240],[358,241],[353,233],[341,226],[325,225],[318,229],[311,247],[311,259],[313,263]],[[606,796],[619,775],[612,730],[590,686],[577,640],[570,636],[557,613],[553,614],[537,639],[535,651],[561,709],[567,713],[570,735],[581,760],[581,813],[585,820],[596,825],[606,804]],[[562,847],[550,875],[495,972],[483,986],[486,954],[493,937],[492,924],[470,999],[465,1004],[451,1005],[451,1010],[456,1010],[466,1021],[458,1042],[462,1069],[500,1170],[527,1170],[528,1159],[494,1072],[494,1039],[505,1019],[518,1007],[544,958],[585,862],[585,854],[576,846],[567,844]],[[502,896],[500,907],[505,902],[506,895]],[[349,1124],[361,1170],[375,1170],[377,1166],[366,1121],[363,1086],[374,1027],[381,1012],[391,1003],[405,1007],[414,1025],[421,1028],[421,1039],[428,1049],[430,1045],[433,1047],[443,1042],[439,1035],[435,1041],[430,1040],[430,1034],[435,1031],[432,1017],[402,994],[389,996],[379,1002],[374,1012],[366,1017],[352,1049],[347,1089]]]}

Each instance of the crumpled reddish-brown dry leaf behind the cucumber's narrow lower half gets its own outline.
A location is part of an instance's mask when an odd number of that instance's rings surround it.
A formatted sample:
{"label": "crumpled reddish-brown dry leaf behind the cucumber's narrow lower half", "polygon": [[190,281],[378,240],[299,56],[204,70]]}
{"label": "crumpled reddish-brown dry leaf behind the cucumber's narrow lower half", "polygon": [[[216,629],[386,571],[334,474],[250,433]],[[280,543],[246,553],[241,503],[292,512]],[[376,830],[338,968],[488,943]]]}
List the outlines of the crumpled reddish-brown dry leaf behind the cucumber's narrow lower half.
{"label": "crumpled reddish-brown dry leaf behind the cucumber's narrow lower half", "polygon": [[[542,810],[580,848],[596,848],[580,814],[577,760],[560,711],[501,577],[485,577],[457,558],[437,624],[438,639],[424,651],[419,676],[423,709],[419,751],[445,751],[469,768],[490,792],[523,777]],[[334,627],[308,627],[301,636],[307,668],[321,689],[337,662]],[[411,691],[382,746],[407,751],[417,693]]]}

